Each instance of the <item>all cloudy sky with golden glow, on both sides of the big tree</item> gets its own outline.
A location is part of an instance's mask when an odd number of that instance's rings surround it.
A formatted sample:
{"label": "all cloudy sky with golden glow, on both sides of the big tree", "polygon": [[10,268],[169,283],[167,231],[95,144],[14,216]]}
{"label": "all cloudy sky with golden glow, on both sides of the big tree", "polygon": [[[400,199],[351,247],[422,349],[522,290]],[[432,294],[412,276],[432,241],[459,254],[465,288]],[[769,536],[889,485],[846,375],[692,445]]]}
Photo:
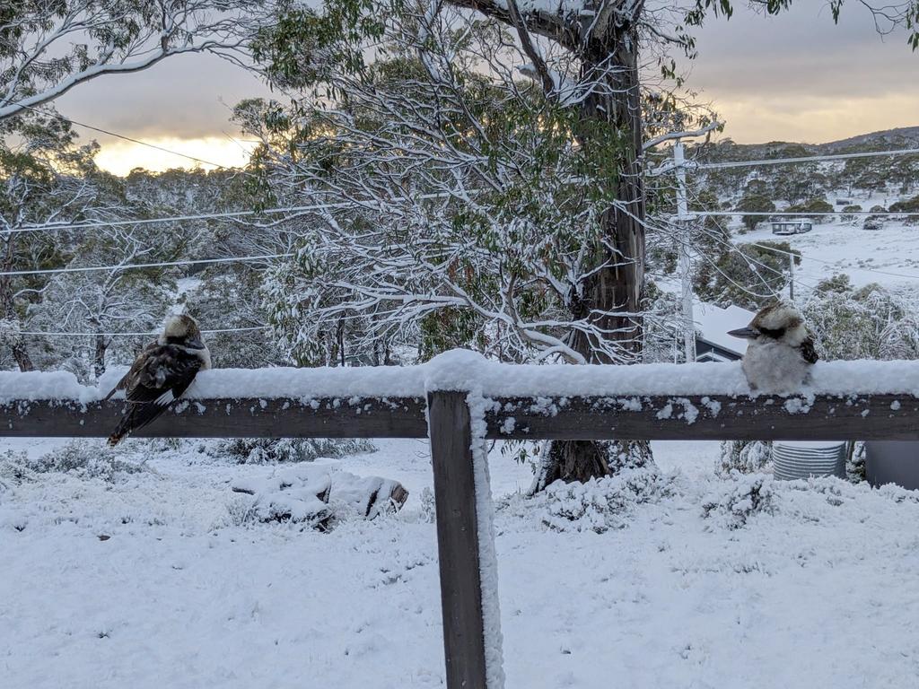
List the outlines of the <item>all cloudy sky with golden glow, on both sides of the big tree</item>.
{"label": "all cloudy sky with golden glow, on both sides of the big tree", "polygon": [[[698,30],[688,84],[726,122],[734,141],[835,141],[919,125],[919,53],[905,34],[882,38],[859,3],[834,25],[823,0],[797,0],[779,17],[738,5],[731,20]],[[233,104],[270,96],[251,73],[210,55],[188,55],[74,88],[66,117],[222,165],[244,164],[247,144],[229,121]],[[86,131],[98,163],[119,175],[193,162]]]}

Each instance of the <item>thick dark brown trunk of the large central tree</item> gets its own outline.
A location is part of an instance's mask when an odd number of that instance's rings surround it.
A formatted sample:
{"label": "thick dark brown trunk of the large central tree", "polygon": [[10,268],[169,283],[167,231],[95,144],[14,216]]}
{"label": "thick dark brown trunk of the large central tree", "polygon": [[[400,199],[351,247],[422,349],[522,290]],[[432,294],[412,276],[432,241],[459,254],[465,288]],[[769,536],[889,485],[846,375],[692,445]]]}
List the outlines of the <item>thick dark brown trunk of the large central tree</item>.
{"label": "thick dark brown trunk of the large central tree", "polygon": [[[645,209],[638,159],[641,156],[641,90],[638,71],[638,36],[632,27],[610,28],[606,39],[588,51],[582,67],[585,77],[615,55],[616,67],[584,99],[582,146],[592,145],[590,132],[608,127],[621,132],[622,159],[615,190],[616,205],[602,218],[602,242],[596,247],[596,264],[602,265],[584,280],[573,299],[572,316],[596,325],[604,339],[614,341],[618,356],[610,356],[585,333],[574,335],[573,347],[591,364],[637,363],[641,358],[642,323],[638,315],[644,296]],[[607,342],[608,345],[608,342]],[[621,469],[637,468],[653,461],[647,441],[585,440],[556,441],[540,457],[534,489],[554,480],[584,481],[610,476]]]}

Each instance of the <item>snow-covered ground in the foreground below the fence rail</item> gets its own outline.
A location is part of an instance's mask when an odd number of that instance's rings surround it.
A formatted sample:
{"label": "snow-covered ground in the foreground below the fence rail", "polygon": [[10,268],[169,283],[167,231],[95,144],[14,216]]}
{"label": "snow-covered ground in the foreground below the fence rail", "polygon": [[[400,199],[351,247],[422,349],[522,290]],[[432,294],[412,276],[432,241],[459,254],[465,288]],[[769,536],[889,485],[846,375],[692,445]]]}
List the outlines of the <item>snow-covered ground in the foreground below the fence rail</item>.
{"label": "snow-covered ground in the foreground below the fence rail", "polygon": [[[426,443],[377,444],[342,466],[409,502],[327,534],[239,525],[230,482],[275,468],[192,445],[114,482],[0,478],[0,687],[442,686]],[[579,501],[524,499],[493,451],[508,687],[914,685],[919,494],[766,480],[742,524],[758,479],[717,478],[717,444],[654,449],[652,490]]]}

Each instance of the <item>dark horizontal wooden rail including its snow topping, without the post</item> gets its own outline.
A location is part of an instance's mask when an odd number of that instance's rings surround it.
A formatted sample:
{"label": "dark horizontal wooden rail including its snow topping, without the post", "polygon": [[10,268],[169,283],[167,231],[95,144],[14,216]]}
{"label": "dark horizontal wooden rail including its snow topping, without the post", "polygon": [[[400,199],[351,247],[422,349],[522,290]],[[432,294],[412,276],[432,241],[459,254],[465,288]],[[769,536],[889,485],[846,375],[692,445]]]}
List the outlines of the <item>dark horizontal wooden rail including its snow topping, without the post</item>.
{"label": "dark horizontal wooden rail including its snow topping, without the post", "polygon": [[[118,380],[0,372],[4,435],[105,436]],[[427,437],[426,395],[474,391],[489,439],[919,439],[919,362],[820,362],[788,396],[751,396],[739,364],[512,366],[450,352],[416,367],[217,369],[137,435]]]}

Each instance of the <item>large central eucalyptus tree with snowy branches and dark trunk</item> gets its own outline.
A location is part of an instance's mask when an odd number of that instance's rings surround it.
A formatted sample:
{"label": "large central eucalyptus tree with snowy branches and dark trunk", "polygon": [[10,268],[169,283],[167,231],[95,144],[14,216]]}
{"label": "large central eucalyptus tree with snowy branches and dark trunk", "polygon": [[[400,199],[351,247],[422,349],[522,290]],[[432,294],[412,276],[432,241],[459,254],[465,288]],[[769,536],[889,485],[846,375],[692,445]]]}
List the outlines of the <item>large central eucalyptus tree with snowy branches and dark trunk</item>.
{"label": "large central eucalyptus tree with snowy branches and dark trunk", "polygon": [[[756,4],[777,12],[789,2]],[[472,344],[510,360],[640,361],[642,113],[655,102],[678,115],[675,129],[698,124],[666,89],[643,93],[641,75],[679,85],[670,51],[691,56],[689,28],[731,9],[280,4],[254,51],[293,107],[248,104],[244,116],[263,135],[255,162],[272,193],[324,206],[300,219],[300,260],[267,281],[283,344],[309,359],[333,323],[351,323],[358,338],[420,339],[423,351]],[[546,480],[648,457],[641,444],[553,452]]]}

